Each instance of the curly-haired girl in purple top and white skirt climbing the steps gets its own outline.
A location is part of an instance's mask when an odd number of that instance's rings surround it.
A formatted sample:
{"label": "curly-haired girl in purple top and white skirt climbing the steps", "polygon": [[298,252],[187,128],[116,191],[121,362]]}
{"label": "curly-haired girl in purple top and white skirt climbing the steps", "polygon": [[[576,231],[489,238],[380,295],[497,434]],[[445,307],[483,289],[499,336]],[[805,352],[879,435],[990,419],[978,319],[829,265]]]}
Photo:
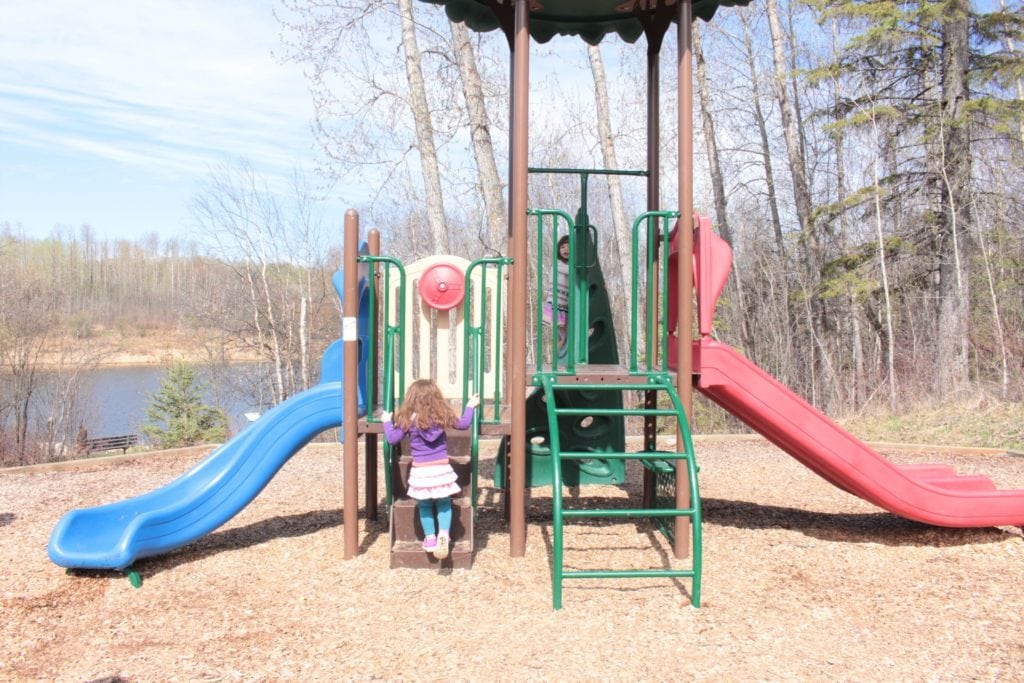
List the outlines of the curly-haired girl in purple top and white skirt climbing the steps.
{"label": "curly-haired girl in purple top and white skirt climbing the steps", "polygon": [[[418,501],[423,525],[423,549],[437,559],[447,557],[452,529],[452,496],[461,489],[449,464],[446,428],[468,429],[473,412],[480,404],[478,395],[470,396],[462,417],[455,414],[433,380],[417,380],[406,392],[406,400],[393,418],[381,414],[384,438],[395,444],[409,434],[413,466],[409,472],[409,496]],[[434,524],[434,507],[437,523]]]}

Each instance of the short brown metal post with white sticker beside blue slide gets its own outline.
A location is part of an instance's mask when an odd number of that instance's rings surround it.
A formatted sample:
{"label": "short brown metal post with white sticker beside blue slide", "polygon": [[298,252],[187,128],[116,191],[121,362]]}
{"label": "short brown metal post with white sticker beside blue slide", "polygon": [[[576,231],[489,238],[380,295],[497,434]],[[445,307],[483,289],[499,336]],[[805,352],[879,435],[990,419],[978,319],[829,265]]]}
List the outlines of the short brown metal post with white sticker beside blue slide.
{"label": "short brown metal post with white sticker beside blue slide", "polygon": [[345,397],[342,412],[344,495],[342,522],[345,527],[345,559],[355,557],[359,545],[359,307],[358,263],[359,214],[355,209],[345,212],[345,301],[341,313],[341,341],[344,350]]}

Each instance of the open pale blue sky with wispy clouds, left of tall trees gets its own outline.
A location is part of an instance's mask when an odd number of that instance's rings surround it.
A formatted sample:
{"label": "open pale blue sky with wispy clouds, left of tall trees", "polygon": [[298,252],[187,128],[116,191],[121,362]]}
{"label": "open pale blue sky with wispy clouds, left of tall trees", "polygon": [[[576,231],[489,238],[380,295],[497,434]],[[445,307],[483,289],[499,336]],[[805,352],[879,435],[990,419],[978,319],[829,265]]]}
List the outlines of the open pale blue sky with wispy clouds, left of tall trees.
{"label": "open pale blue sky with wispy clouds, left of tall trees", "polygon": [[182,238],[218,164],[245,158],[271,183],[312,176],[311,99],[301,67],[274,56],[272,8],[3,0],[0,223]]}

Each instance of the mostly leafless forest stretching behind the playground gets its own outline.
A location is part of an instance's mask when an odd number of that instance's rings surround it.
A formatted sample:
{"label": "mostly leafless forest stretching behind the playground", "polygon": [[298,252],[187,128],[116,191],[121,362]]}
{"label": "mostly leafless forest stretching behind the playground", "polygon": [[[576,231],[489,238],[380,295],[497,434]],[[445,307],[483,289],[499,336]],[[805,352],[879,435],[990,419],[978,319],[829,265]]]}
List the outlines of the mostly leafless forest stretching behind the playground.
{"label": "mostly leafless forest stretching behind the playground", "polygon": [[[238,390],[260,405],[314,384],[339,336],[341,216],[318,205],[330,187],[374,185],[362,223],[400,259],[507,253],[504,36],[413,0],[282,0],[278,16],[280,54],[306,67],[314,101],[315,178],[283,187],[225,162],[180,236],[110,242],[59,225],[33,240],[0,223],[3,462],[67,457],[82,373],[130,359],[140,339],[169,352],[186,340],[177,351],[214,382],[224,364],[258,361]],[[765,0],[694,30],[694,204],[734,254],[716,336],[828,415],[859,418],[863,437],[927,440],[920,421],[892,425],[930,415],[1021,447],[1021,4]],[[554,62],[532,48],[530,165],[643,169],[646,45],[574,42],[575,58]],[[674,51],[667,41],[664,65]],[[569,85],[581,80],[586,96]],[[570,175],[531,176],[529,193],[534,207],[580,204]],[[623,245],[644,182],[595,177],[588,201],[610,298],[627,300]],[[703,403],[696,422],[736,428]]]}

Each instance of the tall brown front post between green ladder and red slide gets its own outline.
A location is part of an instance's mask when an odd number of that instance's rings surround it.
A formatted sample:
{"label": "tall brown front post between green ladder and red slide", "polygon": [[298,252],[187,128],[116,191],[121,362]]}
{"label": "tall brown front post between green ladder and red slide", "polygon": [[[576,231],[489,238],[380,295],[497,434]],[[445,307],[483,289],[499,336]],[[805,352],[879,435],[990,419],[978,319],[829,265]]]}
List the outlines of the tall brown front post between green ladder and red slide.
{"label": "tall brown front post between green ladder and red slide", "polygon": [[[693,6],[692,0],[679,3],[677,25],[679,43],[679,278],[676,283],[676,300],[679,302],[679,330],[676,357],[679,367],[676,387],[686,411],[686,419],[693,415]],[[683,435],[676,432],[676,450],[685,449]],[[678,476],[681,461],[677,463],[676,507],[689,508],[690,490],[684,478]],[[690,518],[676,517],[675,555],[689,556]]]}

